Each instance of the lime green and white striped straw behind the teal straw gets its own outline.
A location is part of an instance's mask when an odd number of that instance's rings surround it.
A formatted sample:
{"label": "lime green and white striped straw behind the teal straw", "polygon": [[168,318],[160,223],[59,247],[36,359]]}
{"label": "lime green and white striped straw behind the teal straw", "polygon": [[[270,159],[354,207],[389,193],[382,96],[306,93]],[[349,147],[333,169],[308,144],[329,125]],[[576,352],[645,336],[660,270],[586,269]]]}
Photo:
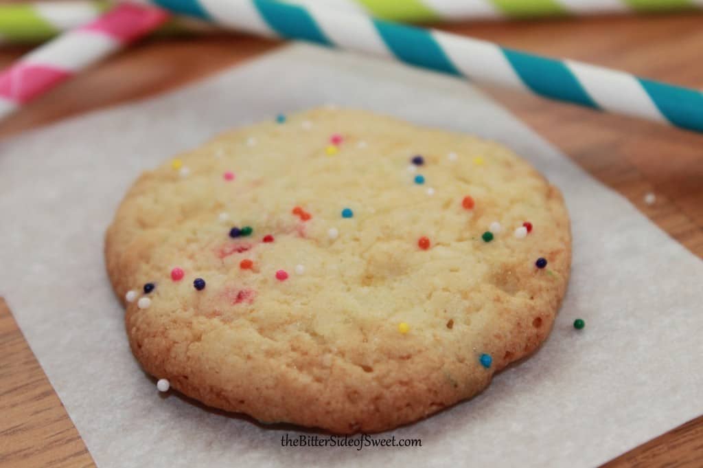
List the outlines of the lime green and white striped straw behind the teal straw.
{"label": "lime green and white striped straw behind the teal straw", "polygon": [[[288,0],[304,6],[365,13],[401,22],[501,20],[600,13],[702,10],[703,0]],[[0,4],[0,43],[41,42],[83,25],[109,8],[103,0]],[[202,23],[174,18],[169,32],[203,32]]]}

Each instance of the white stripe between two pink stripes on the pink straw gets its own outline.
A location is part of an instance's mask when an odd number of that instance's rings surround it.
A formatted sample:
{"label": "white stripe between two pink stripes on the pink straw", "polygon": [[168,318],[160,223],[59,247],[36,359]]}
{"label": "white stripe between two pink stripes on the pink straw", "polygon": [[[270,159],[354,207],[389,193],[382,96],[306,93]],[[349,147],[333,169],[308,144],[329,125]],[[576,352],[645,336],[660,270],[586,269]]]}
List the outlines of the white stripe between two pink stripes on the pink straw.
{"label": "white stripe between two pink stripes on the pink straw", "polygon": [[120,49],[120,43],[97,31],[71,31],[22,57],[22,63],[46,65],[67,72],[80,70]]}

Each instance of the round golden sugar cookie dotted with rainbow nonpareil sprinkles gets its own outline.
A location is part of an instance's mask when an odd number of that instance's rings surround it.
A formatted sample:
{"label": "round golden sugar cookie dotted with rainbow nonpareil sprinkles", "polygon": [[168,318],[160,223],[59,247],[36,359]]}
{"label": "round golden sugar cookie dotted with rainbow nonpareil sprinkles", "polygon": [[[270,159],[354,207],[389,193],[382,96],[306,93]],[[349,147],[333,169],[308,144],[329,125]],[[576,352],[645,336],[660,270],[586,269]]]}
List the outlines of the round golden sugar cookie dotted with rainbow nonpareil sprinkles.
{"label": "round golden sugar cookie dotted with rainbow nonpareil sprinkles", "polygon": [[571,234],[559,190],[503,146],[316,109],[141,175],[105,260],[149,374],[262,422],[370,433],[536,350]]}

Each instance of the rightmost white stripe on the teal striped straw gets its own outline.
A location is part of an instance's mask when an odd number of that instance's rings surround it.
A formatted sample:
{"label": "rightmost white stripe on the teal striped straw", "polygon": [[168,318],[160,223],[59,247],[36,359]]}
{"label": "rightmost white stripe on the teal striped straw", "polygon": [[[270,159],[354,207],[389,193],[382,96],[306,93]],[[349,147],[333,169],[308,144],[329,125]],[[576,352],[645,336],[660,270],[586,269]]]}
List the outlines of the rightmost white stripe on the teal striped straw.
{"label": "rightmost white stripe on the teal striped straw", "polygon": [[565,61],[565,65],[601,108],[667,122],[632,75],[572,61]]}

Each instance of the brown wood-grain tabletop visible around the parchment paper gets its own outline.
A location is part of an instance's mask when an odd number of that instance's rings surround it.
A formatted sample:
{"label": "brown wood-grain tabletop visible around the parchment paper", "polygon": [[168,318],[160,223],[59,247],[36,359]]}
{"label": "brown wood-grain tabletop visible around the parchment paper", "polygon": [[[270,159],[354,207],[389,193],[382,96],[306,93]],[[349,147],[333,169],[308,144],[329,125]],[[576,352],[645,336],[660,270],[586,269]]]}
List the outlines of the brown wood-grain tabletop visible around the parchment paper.
{"label": "brown wood-grain tabletop visible around the parchment paper", "polygon": [[[703,15],[465,23],[444,29],[703,87]],[[238,35],[149,40],[0,123],[0,149],[4,137],[86,110],[163,93],[276,46],[276,42]],[[27,50],[0,48],[0,68]],[[703,135],[515,91],[488,91],[581,167],[626,196],[674,239],[703,256]],[[650,191],[657,195],[652,206],[643,201]],[[11,291],[2,291],[1,286],[0,293],[11,298]],[[1,302],[0,344],[0,467],[94,466],[11,312]],[[605,466],[703,467],[703,417]]]}

